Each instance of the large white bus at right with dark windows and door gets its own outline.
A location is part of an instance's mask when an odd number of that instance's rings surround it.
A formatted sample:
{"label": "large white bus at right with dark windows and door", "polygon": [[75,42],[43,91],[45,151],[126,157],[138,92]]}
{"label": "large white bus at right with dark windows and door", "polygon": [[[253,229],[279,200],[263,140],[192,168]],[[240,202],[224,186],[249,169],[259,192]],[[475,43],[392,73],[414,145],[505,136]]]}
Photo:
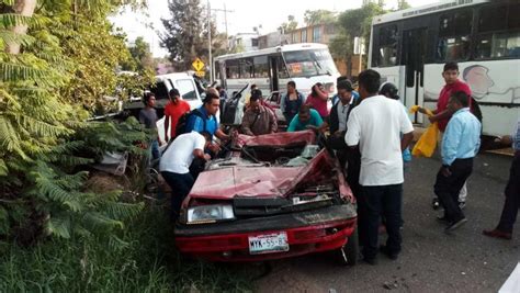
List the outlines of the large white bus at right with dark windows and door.
{"label": "large white bus at right with dark windows and door", "polygon": [[376,16],[369,67],[399,88],[407,108],[436,109],[443,65],[456,61],[484,135],[510,134],[520,117],[519,15],[518,0],[449,0]]}

